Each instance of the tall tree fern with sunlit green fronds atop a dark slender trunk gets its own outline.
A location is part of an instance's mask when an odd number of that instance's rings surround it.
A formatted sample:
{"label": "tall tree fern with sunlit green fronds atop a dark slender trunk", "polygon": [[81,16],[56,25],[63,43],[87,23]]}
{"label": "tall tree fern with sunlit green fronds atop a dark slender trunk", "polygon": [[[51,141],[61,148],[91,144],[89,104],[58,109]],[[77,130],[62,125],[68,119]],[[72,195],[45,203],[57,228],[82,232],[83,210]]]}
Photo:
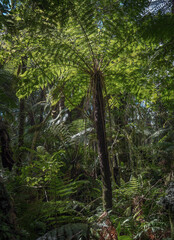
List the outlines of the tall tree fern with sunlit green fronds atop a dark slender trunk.
{"label": "tall tree fern with sunlit green fronds atop a dark slender trunk", "polygon": [[[46,5],[49,5],[48,3],[51,4],[50,1],[45,1]],[[59,15],[59,5],[53,2],[51,6],[55,6],[54,12]],[[38,17],[39,21],[42,19],[45,23],[44,28],[48,29],[49,34],[43,30],[43,25],[40,23],[35,29],[31,29],[32,32],[28,26],[25,34],[23,30],[19,30],[20,51],[26,49],[28,62],[31,66],[34,62],[34,67],[29,68],[22,76],[21,88],[18,91],[19,97],[26,96],[33,90],[56,81],[69,109],[71,108],[68,102],[77,106],[87,93],[91,94],[105,209],[112,208],[112,189],[104,94],[107,94],[107,82],[116,80],[115,77],[106,76],[110,75],[110,69],[112,69],[112,75],[116,73],[115,66],[118,63],[115,60],[119,55],[122,55],[123,59],[127,58],[127,54],[131,55],[134,52],[134,56],[138,55],[135,47],[133,48],[134,43],[137,42],[133,37],[137,32],[134,22],[130,21],[128,14],[124,13],[120,2],[112,2],[108,6],[110,7],[108,8],[104,1],[69,1],[69,18],[63,28],[59,21],[57,23],[52,21],[50,14],[52,8],[48,8],[47,11],[43,5],[36,9],[37,14],[34,13],[34,17]],[[20,8],[21,6],[19,10]],[[26,17],[22,16],[22,18],[27,21]],[[128,46],[128,44],[131,45]],[[67,72],[64,78],[60,78],[62,69],[63,72]],[[129,76],[134,81],[133,76],[139,76],[138,71],[138,67],[130,62],[129,70],[125,73],[128,77],[124,82],[130,80]]]}

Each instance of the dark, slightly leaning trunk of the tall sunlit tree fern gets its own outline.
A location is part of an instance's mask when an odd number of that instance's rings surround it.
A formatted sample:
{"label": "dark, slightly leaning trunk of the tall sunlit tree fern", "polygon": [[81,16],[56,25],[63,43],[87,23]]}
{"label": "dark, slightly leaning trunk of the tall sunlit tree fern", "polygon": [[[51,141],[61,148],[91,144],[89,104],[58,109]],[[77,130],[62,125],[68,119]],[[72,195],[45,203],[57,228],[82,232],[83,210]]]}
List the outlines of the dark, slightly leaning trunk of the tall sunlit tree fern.
{"label": "dark, slightly leaning trunk of the tall sunlit tree fern", "polygon": [[104,100],[102,93],[102,74],[96,71],[92,75],[94,97],[94,121],[96,125],[100,170],[103,182],[104,210],[112,209],[111,172],[106,141]]}

